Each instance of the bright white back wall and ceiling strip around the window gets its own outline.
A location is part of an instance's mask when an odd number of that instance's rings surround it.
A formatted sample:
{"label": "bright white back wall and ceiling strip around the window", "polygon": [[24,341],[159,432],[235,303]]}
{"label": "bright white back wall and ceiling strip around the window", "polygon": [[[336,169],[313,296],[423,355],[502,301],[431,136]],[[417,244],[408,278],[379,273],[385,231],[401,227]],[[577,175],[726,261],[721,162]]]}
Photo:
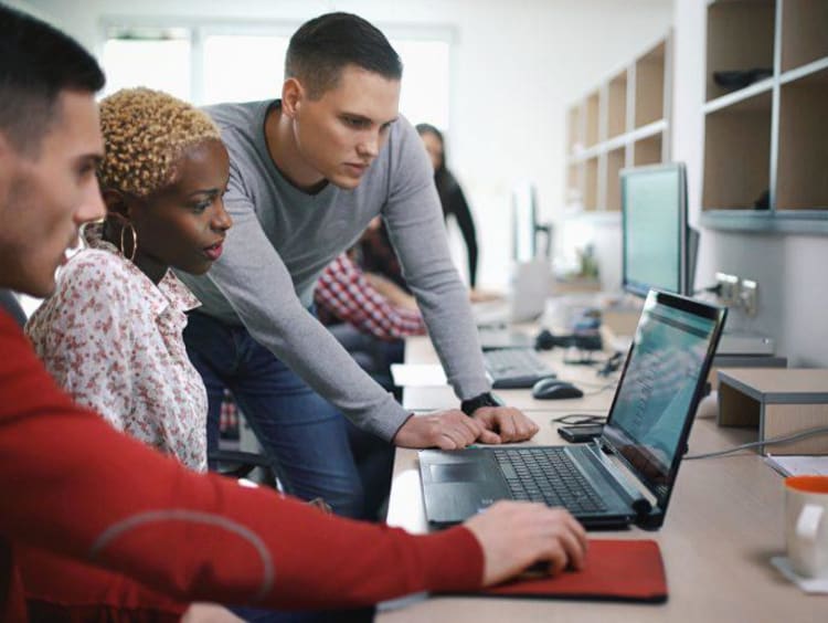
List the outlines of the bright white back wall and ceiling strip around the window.
{"label": "bright white back wall and ceiling strip around the window", "polygon": [[346,10],[385,30],[453,28],[449,166],[476,215],[481,285],[495,287],[508,277],[512,184],[535,181],[544,219],[560,208],[566,106],[662,35],[672,18],[672,0],[28,1],[91,49],[98,45],[102,15],[298,24]]}

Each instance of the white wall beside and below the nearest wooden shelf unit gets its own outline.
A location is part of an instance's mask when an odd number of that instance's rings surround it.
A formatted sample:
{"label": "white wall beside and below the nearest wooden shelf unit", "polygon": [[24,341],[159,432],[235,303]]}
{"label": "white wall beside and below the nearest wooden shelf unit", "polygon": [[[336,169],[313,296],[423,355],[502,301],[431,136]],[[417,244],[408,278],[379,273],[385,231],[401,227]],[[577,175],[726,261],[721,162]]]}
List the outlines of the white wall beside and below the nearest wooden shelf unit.
{"label": "white wall beside and below the nearest wooden shelf unit", "polygon": [[[691,219],[698,220],[704,154],[704,44],[707,3],[676,0],[673,158],[688,167]],[[828,367],[828,236],[771,235],[702,230],[697,285],[723,271],[760,284],[753,319],[732,314],[732,327],[774,337],[793,366]]]}

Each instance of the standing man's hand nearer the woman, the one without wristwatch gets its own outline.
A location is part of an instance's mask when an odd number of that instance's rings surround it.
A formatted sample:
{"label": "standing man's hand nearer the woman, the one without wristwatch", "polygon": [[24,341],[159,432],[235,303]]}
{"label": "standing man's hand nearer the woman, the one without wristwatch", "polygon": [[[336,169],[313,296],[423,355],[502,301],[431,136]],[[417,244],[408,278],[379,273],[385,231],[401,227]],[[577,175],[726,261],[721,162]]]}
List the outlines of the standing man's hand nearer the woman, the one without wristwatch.
{"label": "standing man's hand nearer the woman, the one without wristwatch", "polygon": [[440,450],[459,450],[475,442],[500,443],[500,437],[458,409],[408,418],[393,439],[402,447]]}

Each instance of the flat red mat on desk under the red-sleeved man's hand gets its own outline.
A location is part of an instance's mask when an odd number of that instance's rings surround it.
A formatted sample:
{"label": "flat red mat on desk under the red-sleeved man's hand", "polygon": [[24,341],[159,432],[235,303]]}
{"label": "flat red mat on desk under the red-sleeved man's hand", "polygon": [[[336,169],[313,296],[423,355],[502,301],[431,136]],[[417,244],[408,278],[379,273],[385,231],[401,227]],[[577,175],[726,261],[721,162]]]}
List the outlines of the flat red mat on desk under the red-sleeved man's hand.
{"label": "flat red mat on desk under the red-sleeved man's hand", "polygon": [[656,541],[590,539],[586,562],[581,571],[518,578],[475,594],[664,603],[667,601],[667,578]]}

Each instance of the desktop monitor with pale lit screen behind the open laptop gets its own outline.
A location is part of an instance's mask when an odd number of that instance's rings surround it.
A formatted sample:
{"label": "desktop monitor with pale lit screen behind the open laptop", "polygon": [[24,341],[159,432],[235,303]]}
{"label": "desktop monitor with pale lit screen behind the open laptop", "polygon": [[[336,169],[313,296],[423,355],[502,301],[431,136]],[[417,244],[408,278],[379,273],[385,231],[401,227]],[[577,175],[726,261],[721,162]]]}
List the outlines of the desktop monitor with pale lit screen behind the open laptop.
{"label": "desktop monitor with pale lit screen behind the open laptop", "polygon": [[688,225],[684,165],[622,169],[620,193],[624,289],[692,296],[698,233]]}

